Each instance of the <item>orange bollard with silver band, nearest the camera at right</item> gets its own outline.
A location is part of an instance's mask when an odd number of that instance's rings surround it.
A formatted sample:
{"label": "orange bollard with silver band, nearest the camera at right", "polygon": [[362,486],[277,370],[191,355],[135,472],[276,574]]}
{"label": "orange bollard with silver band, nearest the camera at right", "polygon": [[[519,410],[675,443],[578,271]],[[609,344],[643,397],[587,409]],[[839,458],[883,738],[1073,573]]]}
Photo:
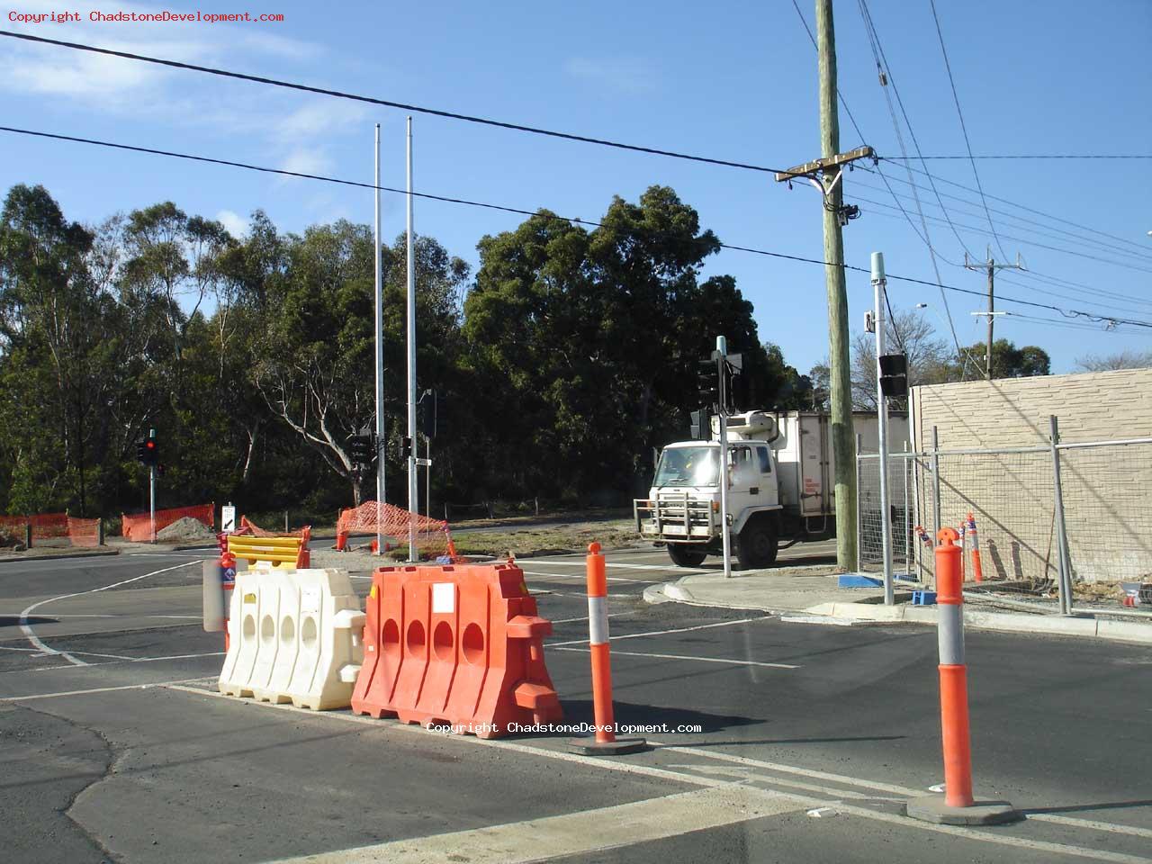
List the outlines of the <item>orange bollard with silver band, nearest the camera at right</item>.
{"label": "orange bollard with silver band, nearest the camera at right", "polygon": [[955,529],[937,535],[937,607],[940,620],[940,730],[943,743],[943,795],[912,798],[908,816],[939,825],[996,825],[1020,814],[1006,801],[972,796],[972,752],[968,728],[968,666],[964,662],[964,594]]}

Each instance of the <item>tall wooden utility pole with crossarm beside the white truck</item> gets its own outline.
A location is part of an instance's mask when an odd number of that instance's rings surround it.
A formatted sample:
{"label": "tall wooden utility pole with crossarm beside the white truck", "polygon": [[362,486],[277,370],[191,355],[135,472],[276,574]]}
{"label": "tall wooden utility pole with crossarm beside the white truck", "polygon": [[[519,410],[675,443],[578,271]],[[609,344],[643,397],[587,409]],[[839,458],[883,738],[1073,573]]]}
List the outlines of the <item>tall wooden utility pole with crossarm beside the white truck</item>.
{"label": "tall wooden utility pole with crossarm beside the white truck", "polygon": [[832,0],[816,0],[816,43],[820,71],[820,159],[775,175],[778,182],[805,180],[824,199],[824,260],[828,293],[828,401],[832,414],[832,455],[835,462],[836,562],[843,570],[857,567],[856,446],[848,343],[848,289],[844,280],[844,241],[841,230],[858,215],[843,204],[844,166],[873,158],[872,147],[840,152],[836,99],[836,37]]}

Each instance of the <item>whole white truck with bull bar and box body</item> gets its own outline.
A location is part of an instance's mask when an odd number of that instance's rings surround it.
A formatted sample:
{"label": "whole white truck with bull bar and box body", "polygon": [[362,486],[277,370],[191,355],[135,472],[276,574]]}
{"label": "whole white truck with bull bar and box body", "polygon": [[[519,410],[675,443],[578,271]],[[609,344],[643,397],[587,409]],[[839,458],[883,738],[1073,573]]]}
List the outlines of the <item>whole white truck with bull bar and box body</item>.
{"label": "whole white truck with bull bar and box body", "polygon": [[[856,412],[861,449],[876,453],[877,417]],[[722,554],[719,418],[708,441],[677,441],[660,454],[646,499],[632,502],[641,536],[664,543],[681,567]],[[908,417],[888,415],[889,452],[903,449]],[[781,539],[795,543],[835,525],[832,422],[826,414],[745,411],[728,417],[728,523],[741,568],[770,567]],[[791,545],[789,543],[789,545]]]}

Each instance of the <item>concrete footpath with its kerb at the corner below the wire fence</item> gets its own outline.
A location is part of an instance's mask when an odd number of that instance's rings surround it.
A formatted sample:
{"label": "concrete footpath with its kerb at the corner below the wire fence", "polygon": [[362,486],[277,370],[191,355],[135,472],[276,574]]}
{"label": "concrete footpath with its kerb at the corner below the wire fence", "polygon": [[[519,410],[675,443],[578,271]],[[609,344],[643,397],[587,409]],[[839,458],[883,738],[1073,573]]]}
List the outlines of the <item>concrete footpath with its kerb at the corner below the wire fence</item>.
{"label": "concrete footpath with its kerb at the corner below the wire fence", "polygon": [[[692,573],[674,582],[650,585],[644,599],[650,604],[684,602],[726,609],[758,609],[779,613],[785,620],[809,623],[935,624],[935,606],[912,606],[911,590],[897,583],[896,604],[884,605],[878,588],[839,588],[827,567],[781,567],[736,573]],[[1038,632],[1081,636],[1115,642],[1152,644],[1152,615],[1147,621],[1098,619],[1082,613],[1070,616],[1022,614],[964,607],[964,624],[979,630]]]}

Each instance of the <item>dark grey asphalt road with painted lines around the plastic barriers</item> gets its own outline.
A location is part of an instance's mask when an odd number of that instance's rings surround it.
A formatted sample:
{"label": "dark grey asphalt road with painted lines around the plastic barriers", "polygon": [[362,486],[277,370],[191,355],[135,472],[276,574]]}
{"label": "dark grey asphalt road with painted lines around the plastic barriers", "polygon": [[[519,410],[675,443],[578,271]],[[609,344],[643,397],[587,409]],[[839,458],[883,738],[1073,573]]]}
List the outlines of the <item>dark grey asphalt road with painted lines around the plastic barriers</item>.
{"label": "dark grey asphalt road with painted lines around the plastic barriers", "polygon": [[[932,630],[649,606],[684,571],[608,561],[616,720],[667,726],[611,760],[214,695],[195,552],[5,563],[0,859],[1152,861],[1152,651],[969,632],[977,794],[1028,818],[941,828],[902,814],[942,780]],[[521,566],[590,722],[583,562]]]}

